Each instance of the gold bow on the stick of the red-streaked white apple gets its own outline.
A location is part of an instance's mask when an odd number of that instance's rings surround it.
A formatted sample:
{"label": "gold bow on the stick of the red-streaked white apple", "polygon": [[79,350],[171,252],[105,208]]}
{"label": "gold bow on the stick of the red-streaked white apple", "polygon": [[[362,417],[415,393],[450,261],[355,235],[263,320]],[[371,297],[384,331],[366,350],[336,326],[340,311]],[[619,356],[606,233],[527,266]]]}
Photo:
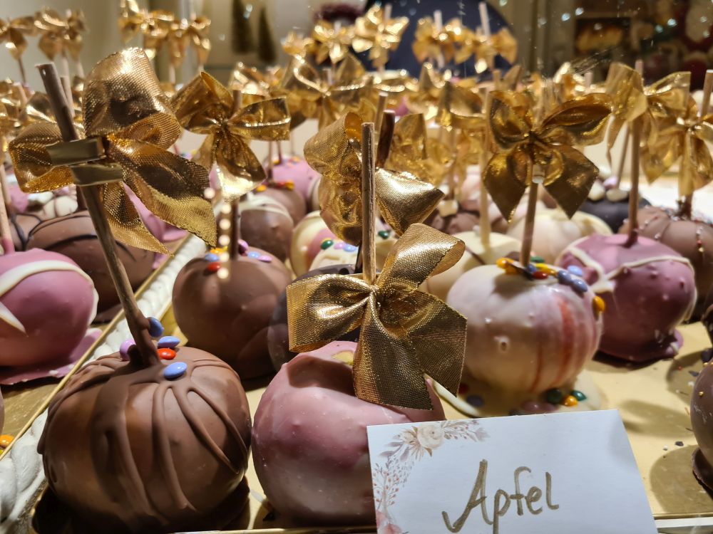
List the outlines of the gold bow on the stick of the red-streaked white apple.
{"label": "gold bow on the stick of the red-streaked white apple", "polygon": [[502,152],[486,167],[485,185],[506,219],[511,220],[535,165],[543,185],[568,216],[587,198],[599,169],[573,145],[602,140],[611,112],[608,95],[592,94],[563,103],[535,122],[533,103],[511,91],[493,91],[488,114],[493,141]]}

